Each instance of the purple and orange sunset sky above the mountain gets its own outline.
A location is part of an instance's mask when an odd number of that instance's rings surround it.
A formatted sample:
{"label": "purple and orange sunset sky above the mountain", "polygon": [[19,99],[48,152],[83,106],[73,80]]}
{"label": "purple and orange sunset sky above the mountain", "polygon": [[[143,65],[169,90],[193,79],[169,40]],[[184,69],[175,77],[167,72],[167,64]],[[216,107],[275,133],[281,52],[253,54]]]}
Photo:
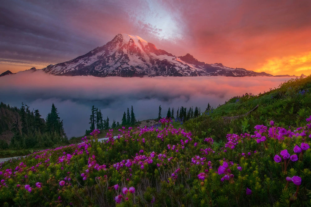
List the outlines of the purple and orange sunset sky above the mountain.
{"label": "purple and orange sunset sky above the mountain", "polygon": [[309,0],[3,1],[0,73],[68,61],[126,33],[209,64],[309,75],[310,11]]}

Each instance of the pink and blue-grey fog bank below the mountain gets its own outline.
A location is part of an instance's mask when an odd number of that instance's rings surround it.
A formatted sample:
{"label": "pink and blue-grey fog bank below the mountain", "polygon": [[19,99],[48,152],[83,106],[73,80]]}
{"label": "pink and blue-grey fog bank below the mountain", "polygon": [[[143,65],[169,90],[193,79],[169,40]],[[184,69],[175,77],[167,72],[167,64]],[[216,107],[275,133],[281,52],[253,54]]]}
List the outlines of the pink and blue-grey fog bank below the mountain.
{"label": "pink and blue-grey fog bank below the mountain", "polygon": [[154,77],[122,78],[53,76],[43,71],[25,71],[0,77],[0,101],[11,106],[39,109],[43,118],[58,108],[68,137],[81,136],[89,128],[91,106],[101,109],[104,118],[121,122],[123,112],[133,106],[138,120],[162,116],[168,107],[198,106],[204,111],[246,92],[268,91],[290,78],[276,77]]}

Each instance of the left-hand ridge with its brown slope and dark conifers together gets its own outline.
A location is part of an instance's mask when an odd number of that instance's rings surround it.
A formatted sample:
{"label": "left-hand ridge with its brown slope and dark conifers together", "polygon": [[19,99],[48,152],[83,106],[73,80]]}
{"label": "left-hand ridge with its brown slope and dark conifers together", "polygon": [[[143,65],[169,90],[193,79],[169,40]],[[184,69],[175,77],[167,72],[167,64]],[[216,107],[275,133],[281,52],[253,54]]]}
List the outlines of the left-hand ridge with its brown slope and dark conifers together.
{"label": "left-hand ridge with its brown slope and dark conifers together", "polygon": [[60,120],[54,104],[44,120],[39,110],[30,111],[29,106],[23,103],[19,109],[1,102],[0,149],[50,147],[66,142],[63,120]]}

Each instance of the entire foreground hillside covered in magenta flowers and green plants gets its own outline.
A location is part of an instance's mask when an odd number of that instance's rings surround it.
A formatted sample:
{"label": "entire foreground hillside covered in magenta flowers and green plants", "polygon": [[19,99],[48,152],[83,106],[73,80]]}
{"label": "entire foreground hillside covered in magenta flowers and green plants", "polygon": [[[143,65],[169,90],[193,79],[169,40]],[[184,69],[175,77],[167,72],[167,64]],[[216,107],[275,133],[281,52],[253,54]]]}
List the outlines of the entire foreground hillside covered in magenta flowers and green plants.
{"label": "entire foreground hillside covered in magenta flowers and green plants", "polygon": [[109,131],[105,143],[94,131],[2,163],[0,205],[311,206],[310,84],[235,97],[182,125],[163,118],[160,128],[122,128],[116,140]]}

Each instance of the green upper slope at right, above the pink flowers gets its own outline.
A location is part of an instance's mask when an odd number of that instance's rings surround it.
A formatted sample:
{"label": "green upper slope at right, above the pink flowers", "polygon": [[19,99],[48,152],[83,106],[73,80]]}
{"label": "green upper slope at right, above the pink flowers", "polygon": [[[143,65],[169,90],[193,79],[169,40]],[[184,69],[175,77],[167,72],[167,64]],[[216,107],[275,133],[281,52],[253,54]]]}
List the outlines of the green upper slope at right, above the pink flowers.
{"label": "green upper slope at right, above the pink flowers", "polygon": [[[222,117],[244,115],[258,105],[247,116],[233,120]],[[233,97],[225,104],[202,116],[191,119],[184,128],[193,131],[199,138],[213,137],[224,141],[227,133],[245,133],[252,130],[254,125],[267,125],[274,120],[280,127],[299,126],[311,114],[311,76],[291,79],[259,95],[245,94]]]}

